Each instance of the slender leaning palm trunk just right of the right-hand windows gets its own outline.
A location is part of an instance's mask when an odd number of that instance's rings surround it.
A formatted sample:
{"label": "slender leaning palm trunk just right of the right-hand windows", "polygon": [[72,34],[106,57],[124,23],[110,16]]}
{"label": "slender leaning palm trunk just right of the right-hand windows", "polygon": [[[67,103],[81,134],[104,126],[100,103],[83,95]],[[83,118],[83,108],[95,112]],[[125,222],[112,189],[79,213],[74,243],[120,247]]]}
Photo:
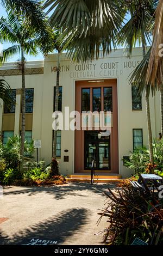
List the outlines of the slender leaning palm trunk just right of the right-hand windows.
{"label": "slender leaning palm trunk just right of the right-hand windows", "polygon": [[[146,56],[146,47],[142,42],[143,49],[143,58]],[[147,129],[148,129],[148,144],[149,144],[149,160],[152,164],[154,164],[153,158],[153,143],[152,143],[152,127],[151,127],[151,113],[150,113],[150,105],[149,105],[149,95],[147,87],[145,89],[145,100],[146,100],[146,114],[147,114]]]}

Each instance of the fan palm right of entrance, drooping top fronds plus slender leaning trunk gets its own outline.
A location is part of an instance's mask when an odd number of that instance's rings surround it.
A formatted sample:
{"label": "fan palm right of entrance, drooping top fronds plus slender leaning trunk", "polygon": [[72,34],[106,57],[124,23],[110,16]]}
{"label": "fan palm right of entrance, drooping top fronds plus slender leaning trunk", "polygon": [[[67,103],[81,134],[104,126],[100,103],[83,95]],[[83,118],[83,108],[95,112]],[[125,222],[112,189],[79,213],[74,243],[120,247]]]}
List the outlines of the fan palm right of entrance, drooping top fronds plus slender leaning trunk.
{"label": "fan palm right of entrance, drooping top fronds plus slender leaning trunk", "polygon": [[[128,56],[131,56],[133,47],[136,42],[142,44],[142,57],[146,56],[146,46],[151,43],[150,34],[148,32],[149,22],[152,20],[154,13],[153,1],[140,1],[133,0],[130,3],[126,3],[126,8],[129,10],[130,19],[123,26],[120,31],[119,40],[121,44],[126,45]],[[134,86],[139,87],[139,84]],[[147,114],[147,129],[148,129],[148,144],[149,144],[149,156],[150,161],[153,164],[153,144],[152,144],[152,127],[151,127],[151,114],[149,106],[149,93],[147,86],[145,87],[145,101],[146,101],[146,114]]]}

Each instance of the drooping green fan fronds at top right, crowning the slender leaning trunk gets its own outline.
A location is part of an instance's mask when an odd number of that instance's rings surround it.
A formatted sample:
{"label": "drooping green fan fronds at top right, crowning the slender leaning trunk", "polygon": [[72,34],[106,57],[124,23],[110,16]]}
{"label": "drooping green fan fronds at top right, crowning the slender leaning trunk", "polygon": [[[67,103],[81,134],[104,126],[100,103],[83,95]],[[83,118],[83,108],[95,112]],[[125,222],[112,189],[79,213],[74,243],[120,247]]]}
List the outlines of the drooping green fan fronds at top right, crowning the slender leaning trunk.
{"label": "drooping green fan fronds at top right, crowning the slender leaning trunk", "polygon": [[154,11],[153,1],[127,1],[126,3],[130,19],[122,27],[117,35],[118,43],[124,45],[127,56],[130,57],[133,47],[138,43],[145,45],[151,44],[151,34],[148,31],[149,21],[152,23],[152,15]]}

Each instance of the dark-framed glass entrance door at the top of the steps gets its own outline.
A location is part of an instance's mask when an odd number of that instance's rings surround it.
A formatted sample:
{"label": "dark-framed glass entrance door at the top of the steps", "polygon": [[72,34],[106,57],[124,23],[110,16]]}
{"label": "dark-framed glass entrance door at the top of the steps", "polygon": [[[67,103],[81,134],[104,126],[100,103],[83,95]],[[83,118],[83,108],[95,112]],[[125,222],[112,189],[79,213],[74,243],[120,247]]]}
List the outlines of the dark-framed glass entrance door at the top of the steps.
{"label": "dark-framed glass entrance door at the top of the steps", "polygon": [[98,131],[85,131],[85,169],[95,160],[95,169],[110,169],[110,136],[98,139]]}

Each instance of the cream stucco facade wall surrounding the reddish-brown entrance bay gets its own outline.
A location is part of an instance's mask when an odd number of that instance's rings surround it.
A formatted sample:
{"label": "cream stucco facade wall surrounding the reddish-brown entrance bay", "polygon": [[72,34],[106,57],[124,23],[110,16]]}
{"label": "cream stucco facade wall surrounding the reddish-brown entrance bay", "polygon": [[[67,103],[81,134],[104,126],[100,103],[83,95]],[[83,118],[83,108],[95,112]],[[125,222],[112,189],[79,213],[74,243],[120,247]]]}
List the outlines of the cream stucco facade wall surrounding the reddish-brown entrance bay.
{"label": "cream stucco facade wall surrounding the reddish-brown entrance bay", "polygon": [[[128,176],[131,171],[123,166],[121,159],[128,156],[133,150],[133,129],[143,129],[143,143],[147,145],[147,122],[145,99],[142,99],[142,111],[132,111],[131,87],[128,76],[134,70],[135,64],[142,59],[141,48],[135,48],[133,57],[124,57],[123,50],[112,52],[109,57],[100,58],[92,62],[92,70],[77,71],[78,64],[67,60],[65,54],[61,56],[60,86],[62,86],[62,111],[64,106],[69,106],[70,111],[75,106],[75,81],[77,80],[102,80],[109,78],[117,79],[118,90],[118,133],[119,133],[119,159],[120,174]],[[52,113],[53,113],[53,88],[56,84],[57,72],[53,72],[53,66],[57,65],[57,54],[50,54],[45,58],[44,74],[26,75],[26,88],[34,88],[34,112],[33,112],[33,138],[41,139],[39,157],[49,163],[52,157]],[[109,63],[111,69],[103,69],[104,64]],[[114,64],[112,64],[114,63]],[[133,63],[133,66],[130,66]],[[42,62],[31,62],[28,66],[41,66]],[[105,64],[106,65],[106,64]],[[12,65],[10,65],[12,66]],[[66,70],[67,67],[67,70]],[[7,69],[7,66],[5,66]],[[68,70],[69,69],[69,70]],[[1,70],[1,69],[0,69]],[[109,73],[108,73],[109,71]],[[4,77],[11,88],[21,88],[21,76]],[[151,123],[153,137],[158,137],[160,132],[160,96],[159,92],[155,97],[150,96]],[[0,124],[1,113],[0,111]],[[67,149],[68,153],[64,150]],[[69,156],[69,162],[64,162],[64,155]],[[62,174],[74,172],[74,132],[61,132],[61,158],[59,159]]]}

